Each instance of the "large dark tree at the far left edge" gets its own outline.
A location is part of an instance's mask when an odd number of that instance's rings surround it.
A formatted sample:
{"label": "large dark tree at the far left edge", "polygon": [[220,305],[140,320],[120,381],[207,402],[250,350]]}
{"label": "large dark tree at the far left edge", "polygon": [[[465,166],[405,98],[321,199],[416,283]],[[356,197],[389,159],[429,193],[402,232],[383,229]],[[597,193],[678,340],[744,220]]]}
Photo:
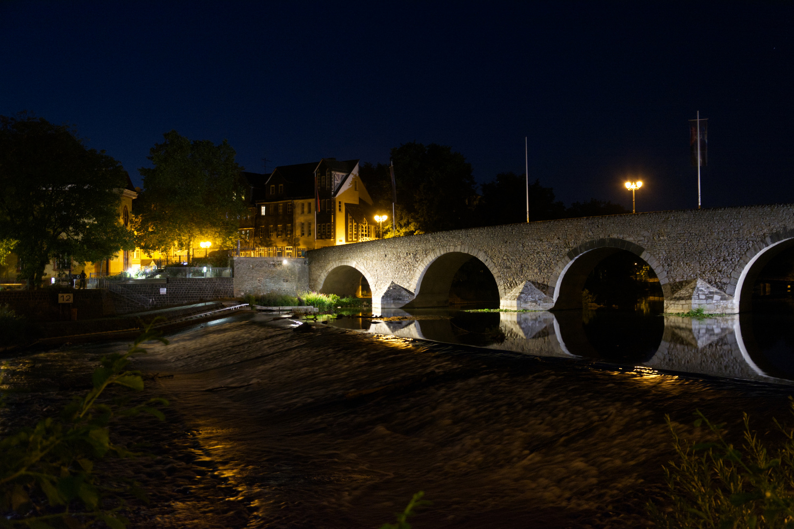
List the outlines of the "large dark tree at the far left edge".
{"label": "large dark tree at the far left edge", "polygon": [[0,240],[16,240],[20,276],[33,288],[53,258],[85,264],[134,249],[121,225],[129,177],[74,129],[29,114],[0,116]]}

